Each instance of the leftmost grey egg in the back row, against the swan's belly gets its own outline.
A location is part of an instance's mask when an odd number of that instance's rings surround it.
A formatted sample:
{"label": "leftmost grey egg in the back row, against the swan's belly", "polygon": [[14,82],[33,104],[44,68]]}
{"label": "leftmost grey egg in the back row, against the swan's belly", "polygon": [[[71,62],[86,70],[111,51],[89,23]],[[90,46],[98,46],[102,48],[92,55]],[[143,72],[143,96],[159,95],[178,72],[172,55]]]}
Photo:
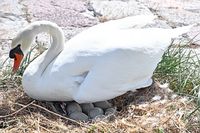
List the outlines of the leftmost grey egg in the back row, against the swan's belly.
{"label": "leftmost grey egg in the back row, against the swan's belly", "polygon": [[68,114],[71,114],[73,112],[82,112],[81,106],[76,102],[69,103],[66,110]]}

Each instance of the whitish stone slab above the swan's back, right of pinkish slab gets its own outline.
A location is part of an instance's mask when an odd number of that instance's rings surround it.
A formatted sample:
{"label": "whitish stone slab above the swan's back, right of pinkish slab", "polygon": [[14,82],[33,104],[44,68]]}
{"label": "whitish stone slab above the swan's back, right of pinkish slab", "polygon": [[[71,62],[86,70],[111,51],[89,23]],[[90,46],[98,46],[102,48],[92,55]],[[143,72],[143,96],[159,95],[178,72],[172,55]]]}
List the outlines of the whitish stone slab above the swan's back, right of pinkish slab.
{"label": "whitish stone slab above the swan's back, right of pinkish slab", "polygon": [[152,15],[151,11],[146,6],[137,1],[91,0],[90,4],[95,12],[102,15],[100,21],[104,21],[101,19],[107,21],[139,14]]}

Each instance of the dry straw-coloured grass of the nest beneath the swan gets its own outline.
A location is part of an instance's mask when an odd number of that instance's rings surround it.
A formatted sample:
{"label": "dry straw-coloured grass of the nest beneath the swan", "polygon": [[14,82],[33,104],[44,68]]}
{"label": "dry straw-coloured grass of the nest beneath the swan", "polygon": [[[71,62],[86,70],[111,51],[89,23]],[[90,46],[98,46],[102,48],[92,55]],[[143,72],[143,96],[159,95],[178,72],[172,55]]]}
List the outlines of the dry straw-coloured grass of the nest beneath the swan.
{"label": "dry straw-coloured grass of the nest beneath the swan", "polygon": [[[20,77],[8,78],[0,86],[0,132],[198,132],[199,112],[189,99],[175,96],[166,86],[154,84],[111,100],[115,116],[89,123],[52,112],[45,102],[24,94]],[[18,82],[17,82],[18,81]],[[160,98],[156,99],[156,97]]]}

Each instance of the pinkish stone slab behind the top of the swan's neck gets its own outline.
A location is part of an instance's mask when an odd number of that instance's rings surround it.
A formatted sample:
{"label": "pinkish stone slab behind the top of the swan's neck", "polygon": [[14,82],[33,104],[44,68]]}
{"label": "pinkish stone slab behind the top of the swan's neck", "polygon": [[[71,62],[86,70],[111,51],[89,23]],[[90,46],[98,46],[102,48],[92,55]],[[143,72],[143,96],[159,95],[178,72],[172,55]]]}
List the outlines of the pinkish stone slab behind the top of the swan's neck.
{"label": "pinkish stone slab behind the top of the swan's neck", "polygon": [[98,23],[97,19],[82,14],[87,10],[83,0],[26,0],[22,3],[33,20],[48,20],[61,27],[88,27]]}

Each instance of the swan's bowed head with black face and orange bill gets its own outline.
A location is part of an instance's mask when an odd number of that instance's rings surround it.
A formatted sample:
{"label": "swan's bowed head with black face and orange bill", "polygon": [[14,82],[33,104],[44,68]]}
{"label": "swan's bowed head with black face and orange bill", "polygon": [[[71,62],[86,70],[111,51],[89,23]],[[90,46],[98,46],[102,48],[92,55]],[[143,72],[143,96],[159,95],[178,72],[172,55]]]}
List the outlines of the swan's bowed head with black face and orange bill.
{"label": "swan's bowed head with black face and orange bill", "polygon": [[19,69],[23,57],[28,53],[34,36],[31,34],[31,29],[26,28],[19,32],[12,40],[9,57],[14,59],[13,72]]}

